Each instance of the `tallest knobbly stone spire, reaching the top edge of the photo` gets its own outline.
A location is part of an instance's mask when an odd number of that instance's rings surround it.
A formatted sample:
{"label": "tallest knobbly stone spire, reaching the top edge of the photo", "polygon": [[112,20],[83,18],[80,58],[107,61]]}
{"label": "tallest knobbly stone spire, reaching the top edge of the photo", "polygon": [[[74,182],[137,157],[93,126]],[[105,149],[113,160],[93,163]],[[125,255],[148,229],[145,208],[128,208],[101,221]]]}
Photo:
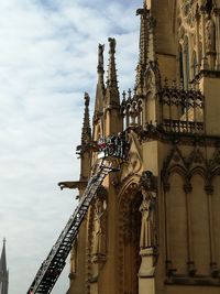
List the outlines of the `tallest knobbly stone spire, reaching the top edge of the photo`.
{"label": "tallest knobbly stone spire, reaching the top edge of the photo", "polygon": [[136,15],[141,15],[141,28],[140,28],[140,55],[139,64],[136,67],[136,90],[142,92],[144,85],[144,73],[146,70],[147,54],[148,54],[148,15],[150,11],[146,8],[144,1],[143,8],[136,10]]}

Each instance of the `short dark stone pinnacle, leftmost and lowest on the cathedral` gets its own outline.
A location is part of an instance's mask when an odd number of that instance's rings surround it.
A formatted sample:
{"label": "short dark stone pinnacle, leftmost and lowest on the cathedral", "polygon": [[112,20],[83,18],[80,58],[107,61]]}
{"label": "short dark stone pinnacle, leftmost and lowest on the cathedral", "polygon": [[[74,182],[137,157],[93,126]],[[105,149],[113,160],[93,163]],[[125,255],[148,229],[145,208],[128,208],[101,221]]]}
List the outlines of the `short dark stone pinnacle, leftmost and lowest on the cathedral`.
{"label": "short dark stone pinnacle, leftmost and lowest on the cathedral", "polygon": [[89,100],[90,97],[88,92],[85,92],[85,112],[84,112],[84,123],[81,129],[81,145],[85,145],[91,141],[91,128],[89,119]]}

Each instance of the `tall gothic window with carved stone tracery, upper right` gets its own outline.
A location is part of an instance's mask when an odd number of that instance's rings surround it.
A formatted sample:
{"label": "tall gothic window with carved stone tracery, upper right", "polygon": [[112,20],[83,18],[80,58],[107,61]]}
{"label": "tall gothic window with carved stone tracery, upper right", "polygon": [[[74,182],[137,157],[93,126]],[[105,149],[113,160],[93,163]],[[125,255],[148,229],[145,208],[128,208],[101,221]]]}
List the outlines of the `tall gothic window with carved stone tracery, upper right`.
{"label": "tall gothic window with carved stone tracery, upper right", "polygon": [[177,19],[178,76],[188,89],[200,70],[220,68],[220,13],[211,0],[180,0]]}

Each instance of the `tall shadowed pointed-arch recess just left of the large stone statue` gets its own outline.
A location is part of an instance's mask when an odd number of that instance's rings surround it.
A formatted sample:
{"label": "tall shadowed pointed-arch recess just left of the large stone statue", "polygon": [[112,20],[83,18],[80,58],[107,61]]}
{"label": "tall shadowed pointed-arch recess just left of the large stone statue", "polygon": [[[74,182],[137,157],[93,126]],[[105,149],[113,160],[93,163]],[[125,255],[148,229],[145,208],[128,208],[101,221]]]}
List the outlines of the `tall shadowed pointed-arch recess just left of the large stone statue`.
{"label": "tall shadowed pointed-arch recess just left of the large stone statue", "polygon": [[138,177],[131,178],[118,198],[118,293],[139,293],[138,273],[141,264],[140,231],[142,195]]}

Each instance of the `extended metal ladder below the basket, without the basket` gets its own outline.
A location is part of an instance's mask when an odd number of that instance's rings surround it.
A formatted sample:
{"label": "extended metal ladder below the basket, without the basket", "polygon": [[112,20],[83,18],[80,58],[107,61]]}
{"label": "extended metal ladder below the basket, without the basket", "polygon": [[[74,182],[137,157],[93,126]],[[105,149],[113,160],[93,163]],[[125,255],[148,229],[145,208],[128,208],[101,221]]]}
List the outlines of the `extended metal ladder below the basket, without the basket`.
{"label": "extended metal ladder below the basket, without the basket", "polygon": [[78,235],[79,227],[97,189],[100,187],[103,178],[112,171],[114,171],[114,168],[111,166],[111,161],[101,161],[97,171],[88,182],[77,208],[70,216],[56,243],[53,246],[47,259],[42,263],[37,271],[28,294],[51,293],[66,264],[66,258],[72,250],[73,242]]}

